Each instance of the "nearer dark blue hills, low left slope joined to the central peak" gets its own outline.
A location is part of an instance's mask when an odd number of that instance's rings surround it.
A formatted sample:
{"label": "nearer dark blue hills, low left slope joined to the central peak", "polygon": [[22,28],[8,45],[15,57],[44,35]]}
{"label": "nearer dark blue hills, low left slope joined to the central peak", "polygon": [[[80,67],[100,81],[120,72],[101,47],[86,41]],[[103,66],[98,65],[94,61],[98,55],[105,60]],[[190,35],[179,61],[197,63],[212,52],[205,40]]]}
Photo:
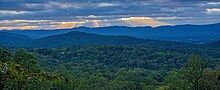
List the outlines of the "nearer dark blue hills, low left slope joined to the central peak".
{"label": "nearer dark blue hills, low left slope joined to the central peak", "polygon": [[154,41],[129,36],[107,36],[72,31],[40,39],[14,33],[0,32],[0,44],[6,47],[63,47],[71,45],[138,45]]}

